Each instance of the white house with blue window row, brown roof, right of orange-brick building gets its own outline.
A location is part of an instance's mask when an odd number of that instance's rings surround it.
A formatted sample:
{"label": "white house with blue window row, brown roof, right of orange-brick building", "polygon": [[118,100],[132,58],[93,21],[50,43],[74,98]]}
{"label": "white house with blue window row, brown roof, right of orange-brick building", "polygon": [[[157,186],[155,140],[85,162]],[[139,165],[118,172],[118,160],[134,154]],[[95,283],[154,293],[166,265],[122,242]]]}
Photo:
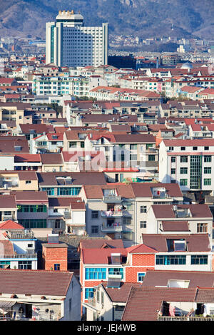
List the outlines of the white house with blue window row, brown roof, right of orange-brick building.
{"label": "white house with blue window row, brown roof, right of orange-brick building", "polygon": [[143,234],[143,243],[157,250],[156,270],[212,271],[208,234]]}

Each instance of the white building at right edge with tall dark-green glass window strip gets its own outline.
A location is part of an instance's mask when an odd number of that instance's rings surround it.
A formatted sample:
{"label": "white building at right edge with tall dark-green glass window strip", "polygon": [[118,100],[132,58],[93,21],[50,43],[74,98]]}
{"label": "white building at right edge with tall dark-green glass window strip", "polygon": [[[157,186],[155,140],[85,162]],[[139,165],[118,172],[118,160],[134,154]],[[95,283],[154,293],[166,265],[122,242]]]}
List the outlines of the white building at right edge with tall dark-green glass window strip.
{"label": "white building at right edge with tall dark-green glass window strip", "polygon": [[183,191],[213,192],[214,140],[163,140],[159,150],[160,182],[178,182]]}

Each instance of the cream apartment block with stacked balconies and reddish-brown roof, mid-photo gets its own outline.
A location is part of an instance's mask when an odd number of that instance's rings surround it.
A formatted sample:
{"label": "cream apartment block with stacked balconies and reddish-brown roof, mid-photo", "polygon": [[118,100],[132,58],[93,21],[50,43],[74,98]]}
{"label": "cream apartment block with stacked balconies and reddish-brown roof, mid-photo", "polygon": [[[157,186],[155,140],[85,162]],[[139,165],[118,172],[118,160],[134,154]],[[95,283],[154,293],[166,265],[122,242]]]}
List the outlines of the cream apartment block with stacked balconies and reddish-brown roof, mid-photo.
{"label": "cream apartment block with stacked balconies and reddish-brown roof, mid-photo", "polygon": [[89,236],[123,239],[125,247],[140,243],[141,235],[148,232],[151,206],[183,202],[177,184],[152,182],[84,185],[79,197],[86,203]]}

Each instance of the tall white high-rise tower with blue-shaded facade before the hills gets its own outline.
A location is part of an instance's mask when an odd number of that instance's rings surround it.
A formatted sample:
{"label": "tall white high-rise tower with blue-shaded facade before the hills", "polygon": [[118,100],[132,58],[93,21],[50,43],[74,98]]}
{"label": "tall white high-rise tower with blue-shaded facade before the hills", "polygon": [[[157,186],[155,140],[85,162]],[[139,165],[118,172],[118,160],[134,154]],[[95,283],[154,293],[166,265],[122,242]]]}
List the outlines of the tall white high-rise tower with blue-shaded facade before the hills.
{"label": "tall white high-rise tower with blue-shaded facade before the hills", "polygon": [[100,66],[108,63],[108,23],[86,27],[83,16],[59,11],[56,22],[46,23],[46,64]]}

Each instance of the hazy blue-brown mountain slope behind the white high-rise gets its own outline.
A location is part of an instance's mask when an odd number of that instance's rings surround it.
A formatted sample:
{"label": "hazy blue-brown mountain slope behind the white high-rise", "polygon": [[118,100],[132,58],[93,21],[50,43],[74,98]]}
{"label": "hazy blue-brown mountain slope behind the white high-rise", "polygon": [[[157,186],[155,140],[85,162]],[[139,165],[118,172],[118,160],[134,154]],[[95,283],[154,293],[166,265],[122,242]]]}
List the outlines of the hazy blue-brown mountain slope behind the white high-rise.
{"label": "hazy blue-brown mountain slope behind the white high-rise", "polygon": [[44,38],[46,21],[73,9],[88,26],[108,21],[117,35],[213,38],[213,0],[0,0],[0,8],[0,36]]}

